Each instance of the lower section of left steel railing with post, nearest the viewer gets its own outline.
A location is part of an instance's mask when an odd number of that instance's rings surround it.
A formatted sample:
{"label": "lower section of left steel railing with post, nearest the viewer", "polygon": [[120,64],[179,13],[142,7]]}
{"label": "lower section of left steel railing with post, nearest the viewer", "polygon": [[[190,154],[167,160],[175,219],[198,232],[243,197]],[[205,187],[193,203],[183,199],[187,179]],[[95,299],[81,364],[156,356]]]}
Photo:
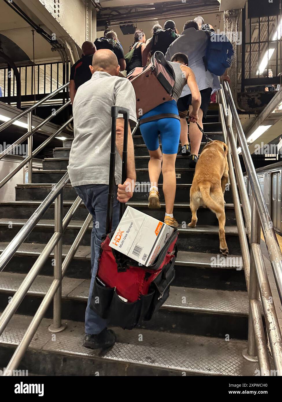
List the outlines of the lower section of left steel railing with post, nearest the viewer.
{"label": "lower section of left steel railing with post, nearest the viewer", "polygon": [[62,279],[66,273],[66,269],[70,264],[70,261],[72,260],[74,254],[76,253],[76,250],[78,249],[78,246],[86,230],[89,228],[89,225],[93,219],[92,215],[89,213],[78,235],[76,236],[76,239],[70,247],[70,250],[66,255],[66,258],[64,259],[64,262],[62,263],[62,235],[82,202],[81,198],[77,197],[63,219],[62,192],[69,180],[70,179],[68,173],[66,173],[56,184],[56,186],[50,191],[50,193],[47,195],[41,205],[39,205],[37,210],[31,215],[28,221],[24,224],[23,228],[21,228],[16,236],[14,236],[12,241],[8,244],[8,246],[5,248],[0,256],[1,272],[8,264],[12,256],[14,256],[21,244],[23,244],[27,236],[31,233],[35,225],[42,218],[47,209],[55,201],[54,234],[47,242],[43,251],[33,264],[33,267],[31,267],[29,273],[19,286],[19,289],[14,293],[14,296],[12,297],[10,303],[1,314],[0,336],[10,322],[16,310],[19,308],[29,288],[31,287],[37,275],[40,273],[41,268],[46,263],[53,249],[55,250],[54,280],[51,283],[45,297],[43,298],[43,301],[41,302],[37,312],[35,313],[33,320],[27,328],[27,331],[25,332],[21,342],[19,343],[19,346],[16,348],[16,351],[14,352],[10,362],[8,363],[6,370],[7,373],[4,373],[4,375],[10,375],[9,370],[16,369],[16,367],[19,365],[52,299],[54,299],[54,319],[53,325],[49,329],[51,330],[51,332],[60,332],[65,328],[61,322]]}

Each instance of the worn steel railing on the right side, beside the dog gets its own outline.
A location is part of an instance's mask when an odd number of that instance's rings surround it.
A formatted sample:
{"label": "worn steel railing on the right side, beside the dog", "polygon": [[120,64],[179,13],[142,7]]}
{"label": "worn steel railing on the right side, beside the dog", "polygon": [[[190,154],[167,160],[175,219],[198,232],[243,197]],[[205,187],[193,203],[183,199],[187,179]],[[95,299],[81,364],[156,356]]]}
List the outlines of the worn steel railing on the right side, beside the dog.
{"label": "worn steel railing on the right side, beside the dog", "polygon": [[[270,262],[274,277],[276,279],[280,299],[282,294],[282,254],[276,239],[276,234],[272,229],[271,219],[261,193],[255,168],[251,160],[251,155],[247,147],[247,141],[240,123],[229,84],[227,82],[223,82],[223,88],[220,90],[220,119],[222,122],[224,140],[229,148],[227,156],[229,164],[229,177],[233,192],[245,279],[249,295],[248,347],[243,351],[242,354],[247,360],[259,362],[261,375],[270,375],[271,365],[268,353],[268,340],[264,332],[261,318],[259,301],[260,296],[273,363],[278,375],[282,375],[282,336],[260,247],[261,228],[268,248]],[[243,179],[243,172],[237,153],[237,138],[232,128],[233,119],[254,195],[252,205],[250,205],[249,202],[249,197]],[[247,236],[250,242],[250,250],[247,243],[246,230],[243,222],[243,215],[233,167],[242,200]]]}

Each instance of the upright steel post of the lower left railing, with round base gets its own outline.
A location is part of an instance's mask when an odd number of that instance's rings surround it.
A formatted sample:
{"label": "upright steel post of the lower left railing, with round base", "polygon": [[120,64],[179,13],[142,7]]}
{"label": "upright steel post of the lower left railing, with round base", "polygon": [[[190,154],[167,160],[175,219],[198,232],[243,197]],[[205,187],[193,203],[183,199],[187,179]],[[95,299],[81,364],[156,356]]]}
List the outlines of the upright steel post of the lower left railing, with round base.
{"label": "upright steel post of the lower left railing, with round base", "polygon": [[63,235],[63,192],[55,200],[55,232],[60,233],[60,240],[54,248],[54,280],[60,281],[60,286],[53,299],[53,324],[49,326],[50,332],[62,332],[66,324],[62,324],[62,235]]}

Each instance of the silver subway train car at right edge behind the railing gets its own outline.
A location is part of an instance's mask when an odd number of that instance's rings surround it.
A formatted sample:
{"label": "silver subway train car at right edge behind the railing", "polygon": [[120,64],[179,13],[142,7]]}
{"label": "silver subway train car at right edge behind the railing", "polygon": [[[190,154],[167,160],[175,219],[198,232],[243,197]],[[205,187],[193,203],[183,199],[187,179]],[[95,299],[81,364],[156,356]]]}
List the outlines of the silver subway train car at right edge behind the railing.
{"label": "silver subway train car at right edge behind the railing", "polygon": [[[282,206],[281,206],[281,172],[282,162],[277,162],[256,169],[257,178],[263,192],[266,206],[270,214],[275,232],[282,235]],[[251,186],[247,174],[244,175],[245,186],[251,198]]]}

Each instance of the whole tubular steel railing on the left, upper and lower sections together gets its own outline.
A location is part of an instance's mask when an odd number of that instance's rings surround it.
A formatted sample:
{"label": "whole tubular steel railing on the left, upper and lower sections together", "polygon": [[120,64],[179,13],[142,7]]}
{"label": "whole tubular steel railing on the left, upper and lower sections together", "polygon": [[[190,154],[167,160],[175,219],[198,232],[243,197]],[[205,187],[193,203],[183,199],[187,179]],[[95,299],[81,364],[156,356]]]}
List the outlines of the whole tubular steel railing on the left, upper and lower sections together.
{"label": "whole tubular steel railing on the left, upper and lower sections together", "polygon": [[[45,96],[45,98],[39,100],[39,102],[35,103],[32,107],[23,111],[19,115],[15,116],[13,119],[7,121],[6,123],[0,125],[0,131],[9,127],[15,121],[18,121],[24,115],[28,115],[28,131],[21,138],[16,140],[14,144],[12,144],[9,148],[7,148],[4,152],[0,154],[0,159],[3,158],[4,155],[8,154],[12,149],[14,149],[17,145],[21,144],[25,139],[28,139],[28,156],[17,166],[14,170],[12,170],[4,179],[0,181],[0,188],[16,174],[25,164],[29,163],[29,183],[31,183],[31,174],[32,174],[32,159],[38,154],[54,137],[56,137],[72,120],[70,118],[60,129],[58,129],[55,133],[50,135],[36,150],[32,149],[32,139],[33,135],[36,131],[45,125],[49,120],[51,120],[55,115],[58,115],[60,111],[66,108],[70,104],[70,100],[62,105],[56,112],[52,113],[49,117],[43,120],[36,127],[32,127],[32,111],[39,105],[43,104],[46,100],[54,96],[56,93],[60,92],[62,89],[66,88],[68,84],[63,85],[58,88],[56,91],[51,94]],[[12,239],[12,241],[8,244],[5,250],[0,255],[0,272],[6,267],[10,259],[14,256],[16,251],[19,249],[21,244],[25,241],[27,236],[31,233],[33,228],[35,228],[36,224],[42,218],[47,209],[55,202],[55,210],[54,210],[54,234],[51,236],[50,240],[47,242],[43,251],[31,267],[27,276],[19,286],[19,289],[14,293],[10,303],[7,305],[5,310],[0,316],[0,335],[5,330],[6,326],[10,322],[12,316],[19,308],[19,305],[23,301],[23,298],[27,294],[29,288],[31,287],[33,281],[36,279],[37,275],[40,273],[41,268],[49,258],[52,250],[54,250],[54,280],[51,283],[43,301],[41,302],[33,320],[31,321],[27,331],[25,332],[21,342],[19,343],[16,351],[14,352],[10,362],[7,365],[7,370],[4,375],[8,375],[8,369],[16,369],[19,365],[25,351],[27,350],[49,304],[52,300],[54,300],[54,314],[53,314],[53,324],[49,327],[51,332],[60,332],[64,330],[65,326],[62,325],[61,320],[61,302],[62,302],[62,279],[66,273],[66,269],[70,264],[70,261],[74,257],[76,250],[86,232],[89,228],[89,225],[92,221],[92,215],[88,214],[86,217],[76,239],[74,240],[70,250],[68,251],[66,257],[64,258],[64,262],[62,262],[62,236],[68,227],[71,219],[74,217],[77,209],[79,208],[82,200],[80,197],[77,197],[66,216],[63,218],[63,190],[65,186],[69,182],[68,173],[66,173],[61,180],[56,184],[51,192],[47,195],[45,200],[39,205],[37,210],[31,215],[31,217],[27,220],[21,230],[16,234],[16,236]]]}

